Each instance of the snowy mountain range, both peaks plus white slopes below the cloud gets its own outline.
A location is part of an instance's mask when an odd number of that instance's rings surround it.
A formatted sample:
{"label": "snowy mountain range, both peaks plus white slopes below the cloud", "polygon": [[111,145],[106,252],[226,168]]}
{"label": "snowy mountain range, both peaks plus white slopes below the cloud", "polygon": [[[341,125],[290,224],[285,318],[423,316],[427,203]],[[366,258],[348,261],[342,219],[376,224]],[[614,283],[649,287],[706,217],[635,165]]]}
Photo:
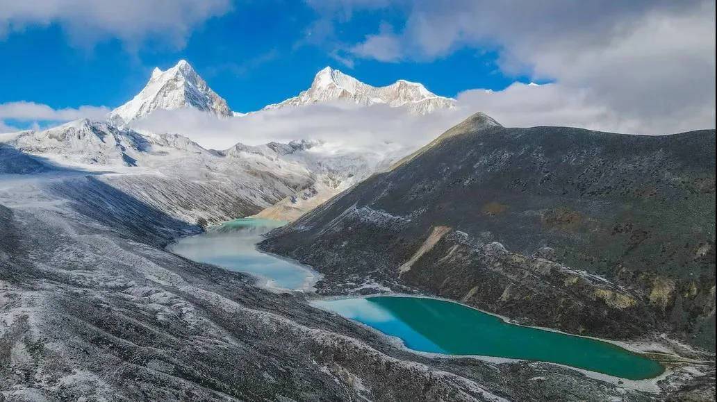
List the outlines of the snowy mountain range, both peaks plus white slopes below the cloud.
{"label": "snowy mountain range, both peaks plus white slopes below the cloud", "polygon": [[[327,67],[316,75],[310,90],[256,113],[320,102],[350,102],[360,106],[385,103],[391,107],[406,107],[411,113],[454,107],[452,100],[437,97],[420,84],[399,81],[376,88]],[[249,176],[267,178],[269,182],[263,191],[252,196],[258,199],[249,200],[245,191],[229,193],[235,193],[237,199],[252,205],[272,206],[263,213],[264,216],[280,220],[295,219],[412,150],[399,147],[391,152],[384,149],[380,152],[337,152],[331,146],[308,138],[256,146],[237,143],[225,150],[208,150],[183,135],[138,132],[132,128],[133,123],[148,118],[156,110],[187,107],[217,118],[239,115],[232,113],[227,102],[209,88],[189,63],[181,60],[166,71],[155,69],[146,87],[132,100],[113,110],[107,122],[81,119],[47,130],[19,132],[5,142],[22,152],[42,155],[61,164],[95,166],[92,169],[102,166],[136,168],[137,172],[154,169],[175,179],[201,173],[201,180],[212,180],[217,173],[231,174],[231,169],[241,163],[242,171]],[[281,179],[274,181],[277,177]],[[290,179],[285,181],[286,177]],[[128,185],[128,188],[132,186]],[[277,203],[279,200],[275,197],[281,201]],[[209,219],[201,213],[184,218],[191,221]]]}

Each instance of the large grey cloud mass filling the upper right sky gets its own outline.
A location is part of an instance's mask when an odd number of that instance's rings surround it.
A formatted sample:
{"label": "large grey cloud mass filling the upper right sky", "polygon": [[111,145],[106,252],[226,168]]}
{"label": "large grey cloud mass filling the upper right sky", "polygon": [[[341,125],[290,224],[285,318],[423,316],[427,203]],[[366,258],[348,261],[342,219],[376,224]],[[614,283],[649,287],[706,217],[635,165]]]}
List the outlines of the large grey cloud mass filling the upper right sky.
{"label": "large grey cloud mass filling the upper right sky", "polygon": [[[364,1],[333,4],[356,10]],[[354,57],[428,61],[462,47],[497,49],[504,73],[553,80],[558,86],[541,92],[559,90],[566,100],[581,100],[590,108],[584,115],[596,119],[619,116],[617,128],[665,133],[715,127],[713,0],[404,0],[399,6],[407,14],[404,26],[367,32],[348,47]],[[507,100],[513,92],[499,97]],[[564,107],[565,114],[577,113],[573,103]]]}

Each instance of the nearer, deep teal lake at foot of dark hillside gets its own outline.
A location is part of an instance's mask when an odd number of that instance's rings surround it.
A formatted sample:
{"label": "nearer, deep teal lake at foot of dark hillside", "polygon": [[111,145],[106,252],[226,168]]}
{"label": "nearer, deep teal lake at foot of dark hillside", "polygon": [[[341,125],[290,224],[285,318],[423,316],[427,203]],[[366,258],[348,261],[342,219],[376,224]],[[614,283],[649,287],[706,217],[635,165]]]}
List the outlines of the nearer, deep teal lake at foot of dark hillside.
{"label": "nearer, deep teal lake at foot of dark hillside", "polygon": [[508,324],[445,300],[378,296],[318,300],[312,305],[374,327],[422,352],[538,360],[630,380],[664,371],[655,360],[611,343]]}

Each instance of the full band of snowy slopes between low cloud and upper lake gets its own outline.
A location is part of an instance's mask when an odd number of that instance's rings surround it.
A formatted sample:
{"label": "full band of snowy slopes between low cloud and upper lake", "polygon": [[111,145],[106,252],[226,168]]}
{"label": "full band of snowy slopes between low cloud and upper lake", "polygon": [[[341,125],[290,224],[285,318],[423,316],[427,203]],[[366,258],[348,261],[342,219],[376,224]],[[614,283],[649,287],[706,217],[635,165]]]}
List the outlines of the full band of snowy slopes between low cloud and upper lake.
{"label": "full band of snowy slopes between low cloud and upper lake", "polygon": [[[263,209],[269,210],[262,216],[293,220],[403,155],[323,150],[323,143],[308,140],[206,150],[182,135],[144,135],[87,119],[17,133],[6,143],[8,158],[28,153],[58,165],[113,171],[103,180],[200,224]],[[217,220],[210,211],[223,214]]]}

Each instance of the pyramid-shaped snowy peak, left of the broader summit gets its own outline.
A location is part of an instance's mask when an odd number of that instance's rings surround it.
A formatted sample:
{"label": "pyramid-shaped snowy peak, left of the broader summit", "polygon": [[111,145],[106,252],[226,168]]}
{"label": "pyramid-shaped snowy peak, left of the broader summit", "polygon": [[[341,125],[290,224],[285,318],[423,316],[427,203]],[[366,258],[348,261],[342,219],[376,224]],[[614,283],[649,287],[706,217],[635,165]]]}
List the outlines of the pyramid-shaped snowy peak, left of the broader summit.
{"label": "pyramid-shaped snowy peak, left of the broader summit", "polygon": [[147,85],[132,100],[110,113],[110,122],[126,125],[156,109],[194,107],[219,117],[232,116],[227,101],[214,92],[185,60],[162,71],[155,68]]}

